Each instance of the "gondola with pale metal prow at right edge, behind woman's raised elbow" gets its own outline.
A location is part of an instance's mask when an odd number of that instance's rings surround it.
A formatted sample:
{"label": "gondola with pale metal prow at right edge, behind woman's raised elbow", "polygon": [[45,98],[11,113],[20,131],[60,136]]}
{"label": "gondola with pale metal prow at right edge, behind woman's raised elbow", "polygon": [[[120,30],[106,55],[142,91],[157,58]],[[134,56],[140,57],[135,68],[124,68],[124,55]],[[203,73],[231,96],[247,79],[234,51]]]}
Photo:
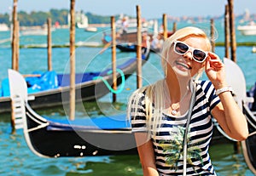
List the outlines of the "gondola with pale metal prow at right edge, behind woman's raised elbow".
{"label": "gondola with pale metal prow at right edge, behind woman's raised elbow", "polygon": [[256,174],[256,112],[252,111],[253,107],[250,109],[249,106],[250,104],[254,105],[253,96],[255,97],[255,94],[248,96],[245,77],[235,62],[225,59],[224,64],[226,65],[227,82],[234,89],[234,98],[247,118],[249,136],[246,140],[241,141],[242,153],[247,166]]}

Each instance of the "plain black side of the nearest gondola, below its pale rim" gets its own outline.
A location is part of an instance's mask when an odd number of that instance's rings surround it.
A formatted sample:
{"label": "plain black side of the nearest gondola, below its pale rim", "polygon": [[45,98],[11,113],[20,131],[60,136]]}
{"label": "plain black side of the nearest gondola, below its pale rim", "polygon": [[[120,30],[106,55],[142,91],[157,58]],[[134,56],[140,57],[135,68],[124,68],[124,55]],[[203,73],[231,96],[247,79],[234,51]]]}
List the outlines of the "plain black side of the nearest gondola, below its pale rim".
{"label": "plain black side of the nearest gondola, below its pale rim", "polygon": [[53,132],[42,128],[30,132],[29,138],[34,150],[49,157],[137,154],[131,133]]}

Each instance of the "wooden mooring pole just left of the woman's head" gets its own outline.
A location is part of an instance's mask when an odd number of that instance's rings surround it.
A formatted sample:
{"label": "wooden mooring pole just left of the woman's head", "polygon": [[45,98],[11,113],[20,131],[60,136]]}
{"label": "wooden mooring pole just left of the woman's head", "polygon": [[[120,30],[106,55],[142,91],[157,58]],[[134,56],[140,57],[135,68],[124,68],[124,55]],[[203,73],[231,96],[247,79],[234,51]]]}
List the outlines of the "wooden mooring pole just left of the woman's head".
{"label": "wooden mooring pole just left of the woman's head", "polygon": [[143,87],[142,71],[142,20],[141,8],[137,5],[137,88]]}

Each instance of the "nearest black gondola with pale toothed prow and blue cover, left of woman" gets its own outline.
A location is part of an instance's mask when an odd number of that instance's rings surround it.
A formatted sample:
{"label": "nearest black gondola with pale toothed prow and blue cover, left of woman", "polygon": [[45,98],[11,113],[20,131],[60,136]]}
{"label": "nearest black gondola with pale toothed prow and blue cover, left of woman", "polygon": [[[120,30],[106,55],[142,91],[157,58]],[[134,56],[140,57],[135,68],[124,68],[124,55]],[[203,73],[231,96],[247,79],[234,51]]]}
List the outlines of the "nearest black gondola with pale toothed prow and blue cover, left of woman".
{"label": "nearest black gondola with pale toothed prow and blue cover, left of woman", "polygon": [[[125,114],[76,119],[49,119],[38,115],[27,99],[26,82],[9,70],[16,121],[21,120],[26,143],[38,156],[108,156],[136,154],[136,142]],[[19,85],[19,87],[17,87]]]}

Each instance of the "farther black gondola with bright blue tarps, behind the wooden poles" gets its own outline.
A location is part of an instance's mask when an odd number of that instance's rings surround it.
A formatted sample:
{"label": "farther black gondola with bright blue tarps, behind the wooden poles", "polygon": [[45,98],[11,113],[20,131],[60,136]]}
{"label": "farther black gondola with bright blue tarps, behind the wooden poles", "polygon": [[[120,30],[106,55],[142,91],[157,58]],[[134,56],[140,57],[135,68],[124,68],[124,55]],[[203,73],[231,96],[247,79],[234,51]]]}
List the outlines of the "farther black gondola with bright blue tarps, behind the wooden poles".
{"label": "farther black gondola with bright blue tarps, behind the wooden poles", "polygon": [[[149,53],[149,48],[143,50],[143,64],[146,62],[146,60],[148,60]],[[101,72],[85,72],[76,74],[76,100],[93,101],[108,94],[110,92],[109,85],[112,85],[113,82],[113,74],[109,72],[111,70],[112,69],[106,69],[105,71]],[[136,57],[126,60],[123,64],[117,65],[118,85],[124,84],[124,78],[127,79],[136,70]],[[46,90],[38,90],[37,92],[32,92],[31,95],[33,95],[35,99],[30,100],[30,105],[33,109],[63,105],[68,102],[70,75],[55,74],[55,76],[53,76],[53,74],[51,74],[50,77],[54,77],[53,79],[56,80],[57,86],[55,86],[55,88],[48,88]],[[29,77],[26,77],[26,80],[27,78]],[[42,81],[39,82],[43,82],[44,80],[45,78],[43,77]],[[27,83],[29,84],[29,82]],[[106,83],[108,86],[106,86]],[[32,87],[32,85],[30,87]],[[8,88],[6,89],[9,91],[9,83]],[[9,95],[0,97],[0,113],[9,112],[11,110],[10,107],[11,105]]]}

